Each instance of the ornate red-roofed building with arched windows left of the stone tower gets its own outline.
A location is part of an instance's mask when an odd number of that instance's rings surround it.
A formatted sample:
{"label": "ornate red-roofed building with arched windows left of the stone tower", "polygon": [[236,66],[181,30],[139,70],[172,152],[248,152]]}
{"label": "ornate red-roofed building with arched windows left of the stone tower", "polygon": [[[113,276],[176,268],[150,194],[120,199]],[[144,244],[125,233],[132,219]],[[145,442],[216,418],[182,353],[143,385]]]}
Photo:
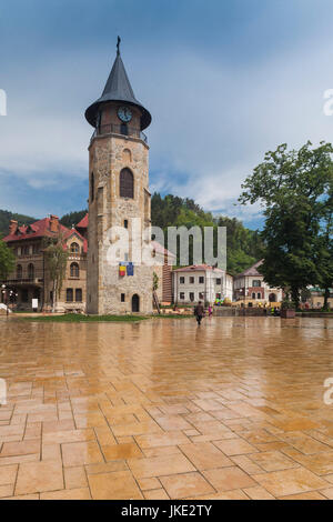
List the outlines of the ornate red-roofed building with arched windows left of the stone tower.
{"label": "ornate red-roofed building with arched windows left of the stone tower", "polygon": [[68,259],[62,289],[57,295],[57,311],[85,310],[87,240],[77,229],[60,224],[57,215],[28,227],[19,227],[17,221],[11,221],[9,234],[3,241],[16,255],[16,267],[3,281],[7,290],[1,293],[2,302],[8,303],[10,292],[11,304],[18,310],[51,310],[53,282],[48,270],[46,248],[49,240],[59,237]]}

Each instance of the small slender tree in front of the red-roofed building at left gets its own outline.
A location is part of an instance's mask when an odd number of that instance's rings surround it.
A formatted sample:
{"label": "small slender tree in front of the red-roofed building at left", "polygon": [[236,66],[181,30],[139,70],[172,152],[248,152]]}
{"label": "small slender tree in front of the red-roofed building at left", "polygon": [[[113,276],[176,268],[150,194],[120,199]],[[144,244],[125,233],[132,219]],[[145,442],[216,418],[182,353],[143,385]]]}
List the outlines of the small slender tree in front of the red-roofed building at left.
{"label": "small slender tree in front of the red-roofed building at left", "polygon": [[69,255],[63,244],[63,237],[59,234],[57,238],[49,238],[44,248],[46,268],[52,281],[52,312],[56,311],[57,298],[60,297]]}

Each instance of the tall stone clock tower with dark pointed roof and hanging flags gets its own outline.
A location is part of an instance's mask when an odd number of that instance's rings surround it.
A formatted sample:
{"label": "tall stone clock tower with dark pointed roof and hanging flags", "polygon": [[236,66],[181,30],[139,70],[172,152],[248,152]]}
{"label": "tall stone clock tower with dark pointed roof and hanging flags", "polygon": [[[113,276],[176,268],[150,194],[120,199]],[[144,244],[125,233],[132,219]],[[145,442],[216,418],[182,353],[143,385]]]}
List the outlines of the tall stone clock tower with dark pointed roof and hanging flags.
{"label": "tall stone clock tower with dark pointed roof and hanging flags", "polygon": [[[127,229],[130,241],[140,218],[150,227],[149,147],[143,134],[151,122],[135,99],[118,39],[117,57],[104,91],[85,111],[94,128],[89,145],[88,313],[152,312],[152,267],[133,261],[133,248],[110,263],[110,248]],[[132,264],[131,264],[132,263]]]}

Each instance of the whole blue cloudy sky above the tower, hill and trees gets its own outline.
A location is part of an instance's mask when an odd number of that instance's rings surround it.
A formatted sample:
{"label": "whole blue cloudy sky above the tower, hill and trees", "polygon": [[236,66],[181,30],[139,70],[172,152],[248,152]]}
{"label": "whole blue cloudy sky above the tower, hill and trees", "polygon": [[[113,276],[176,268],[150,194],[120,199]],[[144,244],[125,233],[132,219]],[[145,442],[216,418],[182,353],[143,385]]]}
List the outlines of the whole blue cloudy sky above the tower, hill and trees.
{"label": "whole blue cloudy sky above the tower, hill and trees", "polygon": [[262,223],[241,183],[282,142],[332,141],[332,0],[0,2],[0,209],[84,208],[91,127],[117,36],[148,129],[151,189]]}

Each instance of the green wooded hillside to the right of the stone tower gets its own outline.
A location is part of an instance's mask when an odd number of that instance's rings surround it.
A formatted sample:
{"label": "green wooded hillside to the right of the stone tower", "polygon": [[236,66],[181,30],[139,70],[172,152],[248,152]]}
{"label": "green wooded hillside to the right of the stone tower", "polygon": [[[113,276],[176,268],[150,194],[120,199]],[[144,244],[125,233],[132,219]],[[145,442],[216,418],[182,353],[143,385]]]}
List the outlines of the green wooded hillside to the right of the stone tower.
{"label": "green wooded hillside to the right of the stone tower", "polygon": [[[168,227],[226,227],[226,269],[236,274],[249,268],[261,257],[262,240],[258,231],[249,230],[235,218],[218,217],[205,212],[191,199],[168,194],[164,198],[154,193],[151,200],[152,224],[160,227],[167,237]],[[215,238],[216,243],[216,238]],[[190,238],[190,264],[192,264]]]}

